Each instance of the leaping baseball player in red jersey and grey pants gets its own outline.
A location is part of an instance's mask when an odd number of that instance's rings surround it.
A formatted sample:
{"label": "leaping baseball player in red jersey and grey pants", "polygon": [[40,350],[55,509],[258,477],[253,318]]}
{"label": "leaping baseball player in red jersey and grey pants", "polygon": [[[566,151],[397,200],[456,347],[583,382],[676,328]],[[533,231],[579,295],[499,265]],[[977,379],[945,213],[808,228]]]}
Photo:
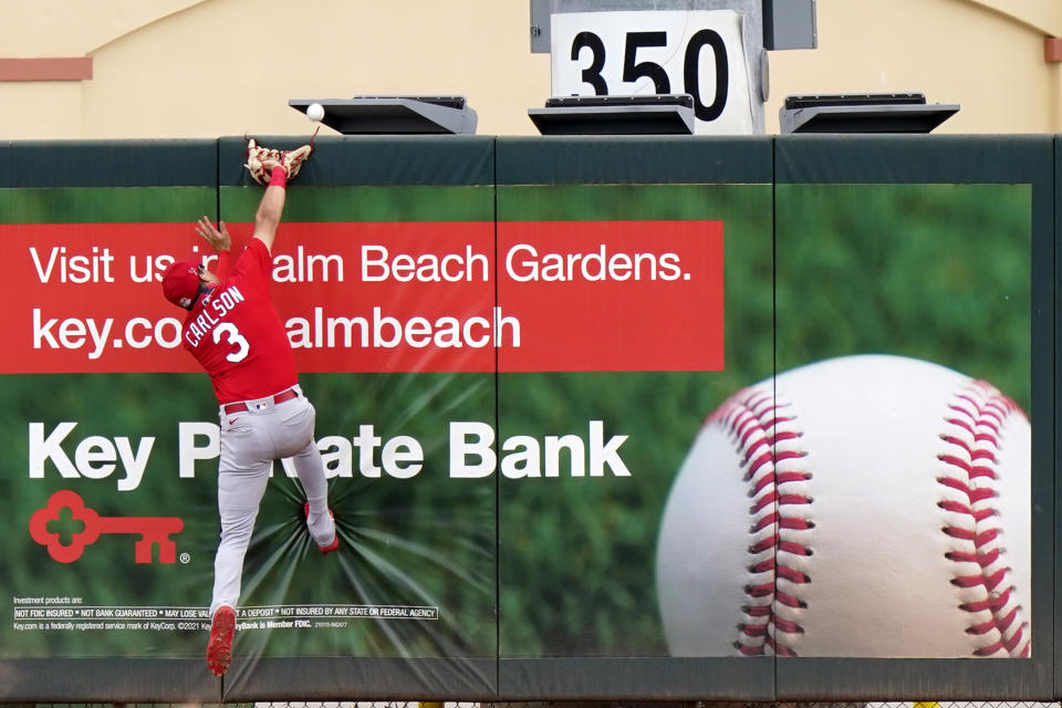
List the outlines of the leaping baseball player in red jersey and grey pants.
{"label": "leaping baseball player in red jersey and grey pants", "polygon": [[322,553],[339,546],[324,464],[313,438],[315,412],[299,387],[294,355],[269,292],[270,249],[284,208],[287,170],[278,160],[263,166],[270,181],[254,215],[254,236],[236,262],[225,223],[215,228],[202,217],[196,231],[217,251],[217,273],[189,260],[175,262],[163,277],[166,299],[188,311],[184,346],[210,375],[220,404],[221,540],[207,645],[207,665],[217,676],[232,659],[243,556],[273,460],[294,458],[310,535]]}

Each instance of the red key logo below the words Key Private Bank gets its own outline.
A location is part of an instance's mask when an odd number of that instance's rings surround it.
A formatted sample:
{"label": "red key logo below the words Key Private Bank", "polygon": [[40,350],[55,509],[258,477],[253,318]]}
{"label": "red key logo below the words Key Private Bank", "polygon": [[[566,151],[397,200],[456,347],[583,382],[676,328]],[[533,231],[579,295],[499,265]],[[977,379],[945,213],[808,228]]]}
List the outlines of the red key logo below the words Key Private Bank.
{"label": "red key logo below the words Key Private Bank", "polygon": [[[49,524],[60,520],[64,509],[70,510],[74,521],[81,521],[84,529],[72,534],[71,542],[64,544],[59,532],[49,531]],[[81,496],[69,489],[62,489],[48,500],[48,506],[38,509],[30,517],[30,535],[41,545],[48,546],[48,554],[60,563],[73,563],[84,552],[86,545],[95,543],[103,533],[134,533],[140,538],[134,544],[137,563],[152,562],[152,548],[158,544],[158,562],[175,563],[177,545],[169,537],[179,533],[185,522],[178,517],[101,517],[85,507]]]}

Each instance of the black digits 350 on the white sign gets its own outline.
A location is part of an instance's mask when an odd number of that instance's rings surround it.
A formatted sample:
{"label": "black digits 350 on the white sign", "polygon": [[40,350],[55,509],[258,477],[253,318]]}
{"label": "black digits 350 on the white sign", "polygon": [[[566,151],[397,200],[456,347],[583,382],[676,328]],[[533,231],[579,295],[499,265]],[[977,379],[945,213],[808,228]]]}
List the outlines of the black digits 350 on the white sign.
{"label": "black digits 350 on the white sign", "polygon": [[[643,46],[667,46],[666,32],[627,32],[626,45],[623,51],[623,81],[634,82],[646,76],[656,86],[656,93],[671,93],[671,82],[667,71],[655,62],[637,61],[638,50]],[[710,46],[716,58],[716,96],[705,105],[700,96],[700,51]],[[580,32],[572,41],[572,61],[577,61],[580,52],[589,49],[591,52],[590,66],[584,69],[581,79],[594,87],[598,96],[608,95],[608,84],[601,75],[605,67],[605,43],[593,32]],[[694,115],[700,121],[715,121],[722,115],[727,107],[727,86],[729,84],[729,66],[727,64],[727,48],[722,38],[715,30],[700,30],[689,38],[686,45],[686,56],[683,62],[684,93],[694,97]]]}

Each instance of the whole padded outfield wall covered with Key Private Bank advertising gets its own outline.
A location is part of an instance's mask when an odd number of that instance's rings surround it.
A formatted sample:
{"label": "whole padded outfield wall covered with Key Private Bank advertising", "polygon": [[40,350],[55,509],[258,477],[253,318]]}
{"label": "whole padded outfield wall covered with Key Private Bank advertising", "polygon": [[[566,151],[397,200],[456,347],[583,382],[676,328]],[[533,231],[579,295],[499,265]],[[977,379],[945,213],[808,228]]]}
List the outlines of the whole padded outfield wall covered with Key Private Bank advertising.
{"label": "whole padded outfield wall covered with Key Private Bank advertising", "polygon": [[315,147],[273,295],[341,550],[277,465],[217,679],[158,278],[250,238],[244,140],[0,146],[0,699],[1062,696],[1058,138]]}

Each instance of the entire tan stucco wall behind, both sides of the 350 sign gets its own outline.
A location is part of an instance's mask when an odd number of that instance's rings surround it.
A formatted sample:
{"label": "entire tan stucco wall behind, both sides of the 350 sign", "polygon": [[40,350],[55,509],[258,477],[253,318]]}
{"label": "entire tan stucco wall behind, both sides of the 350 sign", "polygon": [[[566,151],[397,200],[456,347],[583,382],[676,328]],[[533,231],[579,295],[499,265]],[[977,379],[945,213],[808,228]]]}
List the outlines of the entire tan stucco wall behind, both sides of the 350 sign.
{"label": "entire tan stucco wall behind, both sides of the 350 sign", "polygon": [[[819,0],[819,49],[771,52],[767,132],[794,93],[922,91],[938,132],[1062,132],[1059,0]],[[86,81],[0,82],[0,138],[300,134],[289,98],[461,94],[481,135],[533,135],[550,94],[528,0],[0,0],[2,58],[93,58]],[[275,38],[274,40],[271,38]]]}

